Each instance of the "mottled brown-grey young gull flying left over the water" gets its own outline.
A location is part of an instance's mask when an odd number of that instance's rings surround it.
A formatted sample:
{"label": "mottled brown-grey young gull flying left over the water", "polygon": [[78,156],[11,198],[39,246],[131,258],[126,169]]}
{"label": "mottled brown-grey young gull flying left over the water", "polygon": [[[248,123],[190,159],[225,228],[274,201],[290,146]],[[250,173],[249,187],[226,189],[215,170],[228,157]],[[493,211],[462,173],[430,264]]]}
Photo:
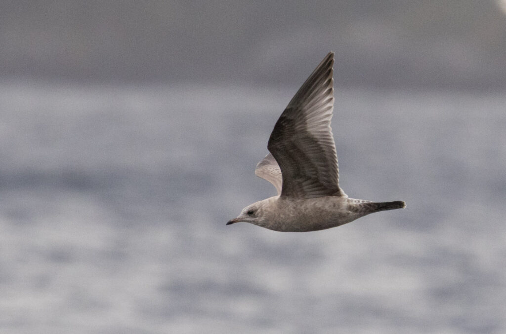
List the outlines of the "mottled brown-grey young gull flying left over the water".
{"label": "mottled brown-grey young gull flying left over the water", "polygon": [[373,212],[405,208],[403,201],[349,198],[339,186],[338,157],[330,128],[334,104],[330,52],[304,82],[274,125],[255,174],[271,182],[277,196],[242,209],[227,225],[248,222],[282,232],[340,226]]}

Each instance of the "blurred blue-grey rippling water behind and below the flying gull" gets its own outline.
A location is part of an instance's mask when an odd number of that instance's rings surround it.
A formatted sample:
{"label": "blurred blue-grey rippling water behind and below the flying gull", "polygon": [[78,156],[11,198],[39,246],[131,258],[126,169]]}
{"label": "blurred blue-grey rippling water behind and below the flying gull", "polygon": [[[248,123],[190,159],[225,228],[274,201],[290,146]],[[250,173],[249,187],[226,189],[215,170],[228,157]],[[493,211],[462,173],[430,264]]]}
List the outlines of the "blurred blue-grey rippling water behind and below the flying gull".
{"label": "blurred blue-grey rippling water behind and below the flying gull", "polygon": [[0,84],[0,329],[502,333],[503,93],[336,89],[341,186],[405,210],[246,223],[296,91]]}

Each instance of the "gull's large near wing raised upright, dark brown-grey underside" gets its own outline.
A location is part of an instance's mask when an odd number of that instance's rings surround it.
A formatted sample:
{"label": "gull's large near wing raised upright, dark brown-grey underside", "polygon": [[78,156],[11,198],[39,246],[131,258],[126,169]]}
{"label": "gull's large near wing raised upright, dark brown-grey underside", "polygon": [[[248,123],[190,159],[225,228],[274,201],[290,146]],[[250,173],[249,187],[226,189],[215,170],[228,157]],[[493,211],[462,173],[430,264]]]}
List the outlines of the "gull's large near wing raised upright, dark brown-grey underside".
{"label": "gull's large near wing raised upright, dark brown-grey underside", "polygon": [[330,52],[288,103],[269,138],[267,148],[282,173],[281,197],[346,196],[339,187],[330,128],[333,63]]}

